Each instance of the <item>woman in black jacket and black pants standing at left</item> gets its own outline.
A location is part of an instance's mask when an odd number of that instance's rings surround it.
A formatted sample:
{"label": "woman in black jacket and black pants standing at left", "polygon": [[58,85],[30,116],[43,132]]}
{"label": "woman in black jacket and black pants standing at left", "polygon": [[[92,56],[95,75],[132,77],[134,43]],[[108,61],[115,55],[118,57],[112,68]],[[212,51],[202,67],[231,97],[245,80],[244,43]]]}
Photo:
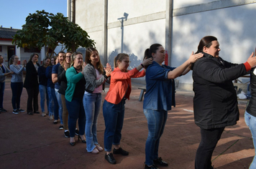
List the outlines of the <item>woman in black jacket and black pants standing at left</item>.
{"label": "woman in black jacket and black pants standing at left", "polygon": [[24,88],[27,90],[27,114],[33,115],[33,113],[40,114],[38,112],[38,93],[39,93],[39,84],[37,71],[40,64],[38,61],[38,54],[32,54],[30,56],[29,62],[27,62],[27,73],[24,81]]}

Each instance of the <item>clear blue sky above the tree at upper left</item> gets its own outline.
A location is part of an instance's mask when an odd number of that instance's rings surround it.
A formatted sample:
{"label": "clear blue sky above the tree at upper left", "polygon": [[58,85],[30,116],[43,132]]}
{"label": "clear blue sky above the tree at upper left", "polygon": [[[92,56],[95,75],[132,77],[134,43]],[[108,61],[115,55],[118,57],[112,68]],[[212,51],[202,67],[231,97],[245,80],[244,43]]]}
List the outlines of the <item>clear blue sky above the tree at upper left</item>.
{"label": "clear blue sky above the tree at upper left", "polygon": [[48,13],[62,13],[67,16],[67,0],[0,0],[0,26],[22,29],[29,14],[45,10]]}

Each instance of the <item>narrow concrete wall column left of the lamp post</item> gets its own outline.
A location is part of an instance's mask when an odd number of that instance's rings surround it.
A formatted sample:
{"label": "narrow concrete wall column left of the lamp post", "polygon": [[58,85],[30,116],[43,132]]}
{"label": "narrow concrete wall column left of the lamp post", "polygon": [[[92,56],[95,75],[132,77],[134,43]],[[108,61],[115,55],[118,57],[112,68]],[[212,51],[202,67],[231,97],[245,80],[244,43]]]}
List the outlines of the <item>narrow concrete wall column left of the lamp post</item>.
{"label": "narrow concrete wall column left of the lamp post", "polygon": [[104,24],[103,24],[103,65],[106,65],[108,62],[108,0],[104,0]]}

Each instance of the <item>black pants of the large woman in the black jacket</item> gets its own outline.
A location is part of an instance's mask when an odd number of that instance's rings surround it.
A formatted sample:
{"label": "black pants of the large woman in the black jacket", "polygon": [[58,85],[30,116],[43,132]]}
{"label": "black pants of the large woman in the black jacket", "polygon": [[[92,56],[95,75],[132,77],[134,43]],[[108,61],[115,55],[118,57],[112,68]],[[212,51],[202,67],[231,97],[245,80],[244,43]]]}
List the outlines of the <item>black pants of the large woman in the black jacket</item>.
{"label": "black pants of the large woman in the black jacket", "polygon": [[195,169],[211,169],[211,155],[225,127],[205,130],[201,128],[201,142],[196,151]]}

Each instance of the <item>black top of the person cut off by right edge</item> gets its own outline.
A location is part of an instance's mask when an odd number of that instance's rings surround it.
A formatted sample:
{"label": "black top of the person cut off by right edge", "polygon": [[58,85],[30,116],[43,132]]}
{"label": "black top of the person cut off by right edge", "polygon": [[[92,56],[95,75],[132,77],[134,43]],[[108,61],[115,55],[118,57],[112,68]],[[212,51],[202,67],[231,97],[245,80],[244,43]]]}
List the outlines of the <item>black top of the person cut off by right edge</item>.
{"label": "black top of the person cut off by right edge", "polygon": [[256,117],[256,69],[252,69],[250,76],[250,85],[251,85],[251,99],[249,105],[246,108],[246,111]]}

